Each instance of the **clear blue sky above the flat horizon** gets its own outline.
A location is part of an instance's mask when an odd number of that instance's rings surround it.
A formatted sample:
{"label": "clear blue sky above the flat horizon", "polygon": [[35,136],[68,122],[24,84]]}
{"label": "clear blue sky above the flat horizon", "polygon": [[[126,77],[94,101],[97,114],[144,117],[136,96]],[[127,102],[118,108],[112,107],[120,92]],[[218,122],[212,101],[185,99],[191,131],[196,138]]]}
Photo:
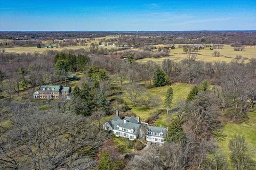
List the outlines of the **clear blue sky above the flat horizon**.
{"label": "clear blue sky above the flat horizon", "polygon": [[256,0],[0,0],[0,30],[256,30]]}

